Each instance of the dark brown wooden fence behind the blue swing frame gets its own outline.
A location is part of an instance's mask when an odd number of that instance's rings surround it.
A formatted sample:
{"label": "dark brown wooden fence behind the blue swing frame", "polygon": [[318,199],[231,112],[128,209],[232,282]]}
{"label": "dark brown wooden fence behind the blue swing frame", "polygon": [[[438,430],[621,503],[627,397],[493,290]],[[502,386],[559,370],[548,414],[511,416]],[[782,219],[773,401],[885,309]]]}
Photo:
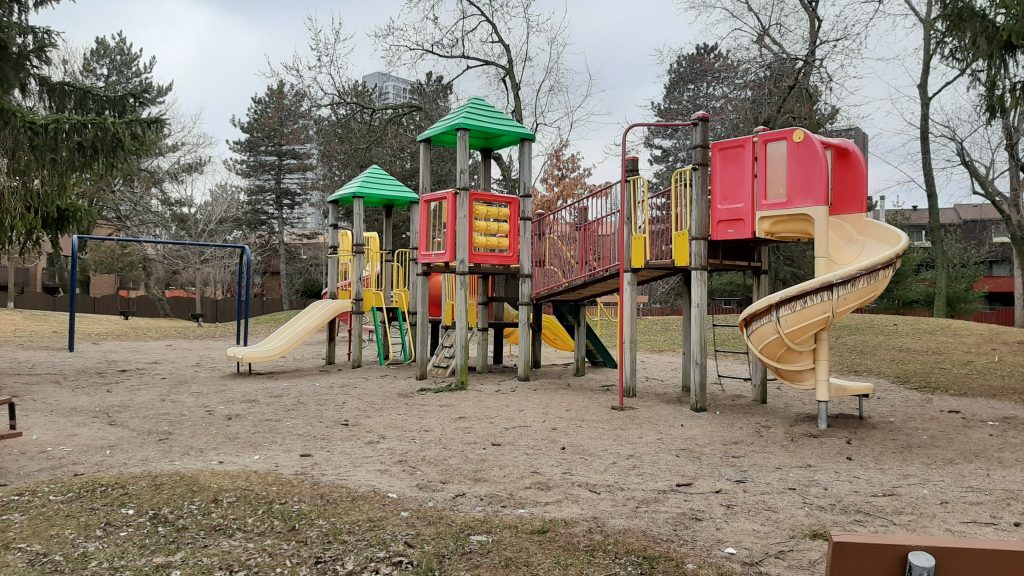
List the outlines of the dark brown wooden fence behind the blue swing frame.
{"label": "dark brown wooden fence behind the blue swing frame", "polygon": [[[70,296],[51,296],[44,292],[26,292],[14,296],[14,307],[19,310],[40,310],[46,312],[68,312]],[[315,300],[295,299],[292,300],[292,310],[301,310]],[[203,298],[203,322],[220,323],[234,322],[236,315],[234,298]],[[0,292],[0,307],[7,305],[7,292]],[[171,311],[171,317],[179,320],[191,320],[191,313],[196,311],[195,298],[171,297],[167,298],[167,305]],[[119,316],[122,311],[130,311],[139,318],[161,318],[160,305],[152,296],[136,296],[126,298],[117,294],[105,296],[78,295],[76,305],[78,314],[102,314],[109,316]],[[284,306],[281,298],[255,298],[249,302],[249,316],[263,316],[282,312]]]}

